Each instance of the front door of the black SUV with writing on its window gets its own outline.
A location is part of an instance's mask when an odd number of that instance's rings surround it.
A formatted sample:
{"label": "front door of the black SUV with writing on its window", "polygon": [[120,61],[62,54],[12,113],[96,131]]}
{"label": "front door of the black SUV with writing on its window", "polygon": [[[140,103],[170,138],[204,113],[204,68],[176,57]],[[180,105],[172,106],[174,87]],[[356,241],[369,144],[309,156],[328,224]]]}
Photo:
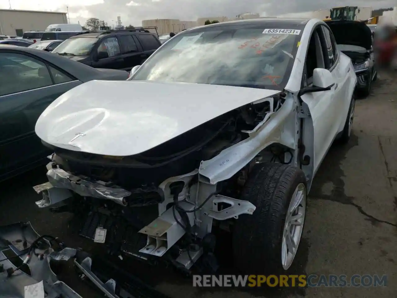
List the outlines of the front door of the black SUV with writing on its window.
{"label": "front door of the black SUV with writing on its window", "polygon": [[[105,56],[101,56],[105,54]],[[110,68],[122,70],[124,58],[120,54],[120,45],[115,36],[104,38],[100,41],[94,53],[96,61],[93,61],[94,68]]]}

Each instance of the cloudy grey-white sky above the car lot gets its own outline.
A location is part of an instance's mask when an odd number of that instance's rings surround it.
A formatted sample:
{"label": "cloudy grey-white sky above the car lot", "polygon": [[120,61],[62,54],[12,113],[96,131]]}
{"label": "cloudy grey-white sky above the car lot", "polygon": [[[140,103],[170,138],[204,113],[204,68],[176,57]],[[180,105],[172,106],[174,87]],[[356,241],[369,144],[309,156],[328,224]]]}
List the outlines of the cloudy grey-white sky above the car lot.
{"label": "cloudy grey-white sky above the car lot", "polygon": [[123,25],[141,25],[143,19],[180,19],[195,21],[198,17],[235,17],[244,12],[276,15],[330,8],[330,6],[397,6],[397,0],[0,0],[0,8],[21,10],[52,10],[66,12],[69,6],[71,23],[84,24],[89,17],[97,17],[113,25],[121,16]]}

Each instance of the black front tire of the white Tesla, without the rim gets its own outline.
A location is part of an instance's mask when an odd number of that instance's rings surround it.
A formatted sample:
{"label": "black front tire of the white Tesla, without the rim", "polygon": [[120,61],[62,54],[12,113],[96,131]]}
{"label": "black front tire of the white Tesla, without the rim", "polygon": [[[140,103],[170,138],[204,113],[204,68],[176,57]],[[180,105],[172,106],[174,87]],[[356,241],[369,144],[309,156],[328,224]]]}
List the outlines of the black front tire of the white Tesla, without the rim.
{"label": "black front tire of the white Tesla, without the rim", "polygon": [[281,245],[285,217],[301,183],[306,192],[306,177],[298,168],[277,163],[254,167],[241,199],[250,201],[256,209],[252,215],[240,215],[233,229],[233,262],[237,269],[245,274],[284,271]]}

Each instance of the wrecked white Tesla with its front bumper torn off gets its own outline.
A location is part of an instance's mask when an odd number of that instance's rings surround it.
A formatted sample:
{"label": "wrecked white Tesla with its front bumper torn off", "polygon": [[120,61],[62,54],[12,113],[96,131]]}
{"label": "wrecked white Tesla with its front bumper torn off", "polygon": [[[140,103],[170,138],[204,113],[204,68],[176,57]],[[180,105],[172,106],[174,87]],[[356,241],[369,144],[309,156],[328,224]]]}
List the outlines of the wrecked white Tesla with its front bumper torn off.
{"label": "wrecked white Tesla with its front bumper torn off", "polygon": [[241,271],[287,270],[314,175],[351,135],[356,85],[321,20],[188,29],[127,81],[48,106],[36,134],[54,153],[36,203],[78,214],[76,232],[114,253],[216,271],[224,229]]}

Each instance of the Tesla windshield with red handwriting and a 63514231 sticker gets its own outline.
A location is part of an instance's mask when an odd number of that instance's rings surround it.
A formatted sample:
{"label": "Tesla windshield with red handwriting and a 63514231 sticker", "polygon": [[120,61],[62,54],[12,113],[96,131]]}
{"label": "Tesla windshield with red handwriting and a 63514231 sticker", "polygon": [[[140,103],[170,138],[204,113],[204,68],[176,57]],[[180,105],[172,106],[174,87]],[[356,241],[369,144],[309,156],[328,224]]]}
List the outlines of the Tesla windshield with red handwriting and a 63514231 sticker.
{"label": "Tesla windshield with red handwriting and a 63514231 sticker", "polygon": [[283,89],[301,30],[264,31],[258,26],[200,28],[175,35],[150,56],[133,80]]}

